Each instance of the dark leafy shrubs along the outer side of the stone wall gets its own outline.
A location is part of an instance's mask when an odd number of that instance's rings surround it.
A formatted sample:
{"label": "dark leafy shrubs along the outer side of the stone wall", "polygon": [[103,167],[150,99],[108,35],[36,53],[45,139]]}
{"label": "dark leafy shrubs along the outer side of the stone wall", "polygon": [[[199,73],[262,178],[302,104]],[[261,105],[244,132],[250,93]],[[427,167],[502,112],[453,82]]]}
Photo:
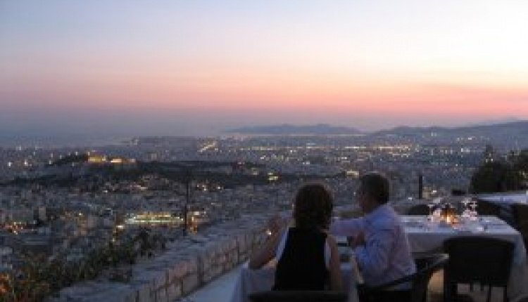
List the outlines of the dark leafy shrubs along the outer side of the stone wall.
{"label": "dark leafy shrubs along the outer side of the stone wall", "polygon": [[[109,243],[94,249],[80,261],[68,261],[65,255],[46,259],[25,255],[23,267],[10,273],[0,273],[0,302],[37,302],[75,282],[94,280],[103,270],[111,270],[111,280],[128,282],[139,254],[153,254],[165,244],[161,235],[140,232],[119,244]],[[123,269],[125,267],[125,270]]]}

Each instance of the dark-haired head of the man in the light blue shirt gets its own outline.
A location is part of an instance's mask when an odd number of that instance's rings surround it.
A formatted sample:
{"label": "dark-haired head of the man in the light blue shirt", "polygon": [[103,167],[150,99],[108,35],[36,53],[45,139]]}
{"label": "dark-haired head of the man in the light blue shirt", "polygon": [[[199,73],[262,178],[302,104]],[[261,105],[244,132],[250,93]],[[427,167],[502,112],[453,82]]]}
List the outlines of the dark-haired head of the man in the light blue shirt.
{"label": "dark-haired head of the man in the light blue shirt", "polygon": [[389,202],[389,179],[382,173],[370,172],[359,178],[357,198],[363,212],[370,213],[377,206]]}

